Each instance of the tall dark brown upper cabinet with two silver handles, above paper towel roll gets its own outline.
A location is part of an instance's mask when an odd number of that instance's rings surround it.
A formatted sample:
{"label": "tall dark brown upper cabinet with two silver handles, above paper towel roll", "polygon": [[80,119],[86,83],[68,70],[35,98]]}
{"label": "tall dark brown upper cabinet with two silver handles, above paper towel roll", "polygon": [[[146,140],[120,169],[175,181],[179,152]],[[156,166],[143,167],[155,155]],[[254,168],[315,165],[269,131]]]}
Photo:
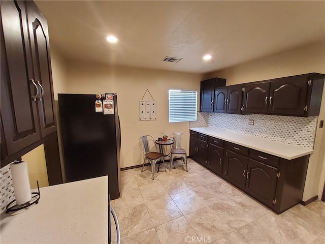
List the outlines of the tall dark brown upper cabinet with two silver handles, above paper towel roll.
{"label": "tall dark brown upper cabinet with two silver handles, above paper towel roll", "polygon": [[1,3],[2,166],[56,131],[48,40],[34,2]]}

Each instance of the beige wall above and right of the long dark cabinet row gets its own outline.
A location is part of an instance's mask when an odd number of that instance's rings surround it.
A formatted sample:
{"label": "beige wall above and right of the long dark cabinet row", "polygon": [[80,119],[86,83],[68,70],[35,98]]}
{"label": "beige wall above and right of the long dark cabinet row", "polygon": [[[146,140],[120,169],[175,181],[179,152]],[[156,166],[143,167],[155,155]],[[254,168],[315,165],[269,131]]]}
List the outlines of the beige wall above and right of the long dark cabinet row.
{"label": "beige wall above and right of the long dark cabinet row", "polygon": [[[325,43],[310,44],[301,48],[288,50],[276,55],[253,60],[228,69],[220,70],[205,75],[205,78],[226,78],[227,85],[240,84],[258,80],[265,80],[304,73],[325,74]],[[321,102],[319,120],[325,119],[325,87]],[[311,155],[308,165],[307,178],[303,200],[318,195],[321,197],[320,189],[324,186],[324,150],[325,135],[324,128],[317,129],[314,145],[314,154]],[[320,180],[321,179],[321,180]]]}

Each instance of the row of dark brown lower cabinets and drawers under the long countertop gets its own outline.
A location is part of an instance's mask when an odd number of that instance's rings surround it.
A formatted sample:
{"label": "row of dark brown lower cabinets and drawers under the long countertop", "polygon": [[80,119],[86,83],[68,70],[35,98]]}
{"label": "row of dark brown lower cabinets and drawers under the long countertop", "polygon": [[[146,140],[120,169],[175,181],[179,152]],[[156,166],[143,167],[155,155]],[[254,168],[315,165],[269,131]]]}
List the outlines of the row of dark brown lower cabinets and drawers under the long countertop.
{"label": "row of dark brown lower cabinets and drawers under the long countertop", "polygon": [[286,160],[191,131],[190,157],[277,214],[302,200],[309,155]]}

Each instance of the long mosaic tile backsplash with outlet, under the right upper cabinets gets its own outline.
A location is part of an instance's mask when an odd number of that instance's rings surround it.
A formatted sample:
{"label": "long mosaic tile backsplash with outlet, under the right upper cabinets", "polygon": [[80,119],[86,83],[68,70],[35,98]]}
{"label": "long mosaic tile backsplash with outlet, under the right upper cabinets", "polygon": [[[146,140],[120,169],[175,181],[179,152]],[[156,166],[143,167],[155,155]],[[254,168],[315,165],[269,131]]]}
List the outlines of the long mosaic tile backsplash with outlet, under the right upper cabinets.
{"label": "long mosaic tile backsplash with outlet, under the right upper cabinets", "polygon": [[[253,119],[254,125],[248,125]],[[198,120],[189,127],[212,127],[264,138],[280,143],[313,148],[317,116],[293,117],[265,114],[227,114],[198,112]]]}

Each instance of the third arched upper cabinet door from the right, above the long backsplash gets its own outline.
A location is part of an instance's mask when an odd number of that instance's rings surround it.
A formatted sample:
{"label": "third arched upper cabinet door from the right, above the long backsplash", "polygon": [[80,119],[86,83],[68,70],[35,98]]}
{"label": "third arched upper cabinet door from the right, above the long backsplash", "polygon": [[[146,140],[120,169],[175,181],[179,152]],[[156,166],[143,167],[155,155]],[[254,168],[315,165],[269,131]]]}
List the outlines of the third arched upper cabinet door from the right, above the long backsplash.
{"label": "third arched upper cabinet door from the right, above the long backsplash", "polygon": [[231,85],[228,87],[227,113],[241,113],[243,99],[243,85]]}

